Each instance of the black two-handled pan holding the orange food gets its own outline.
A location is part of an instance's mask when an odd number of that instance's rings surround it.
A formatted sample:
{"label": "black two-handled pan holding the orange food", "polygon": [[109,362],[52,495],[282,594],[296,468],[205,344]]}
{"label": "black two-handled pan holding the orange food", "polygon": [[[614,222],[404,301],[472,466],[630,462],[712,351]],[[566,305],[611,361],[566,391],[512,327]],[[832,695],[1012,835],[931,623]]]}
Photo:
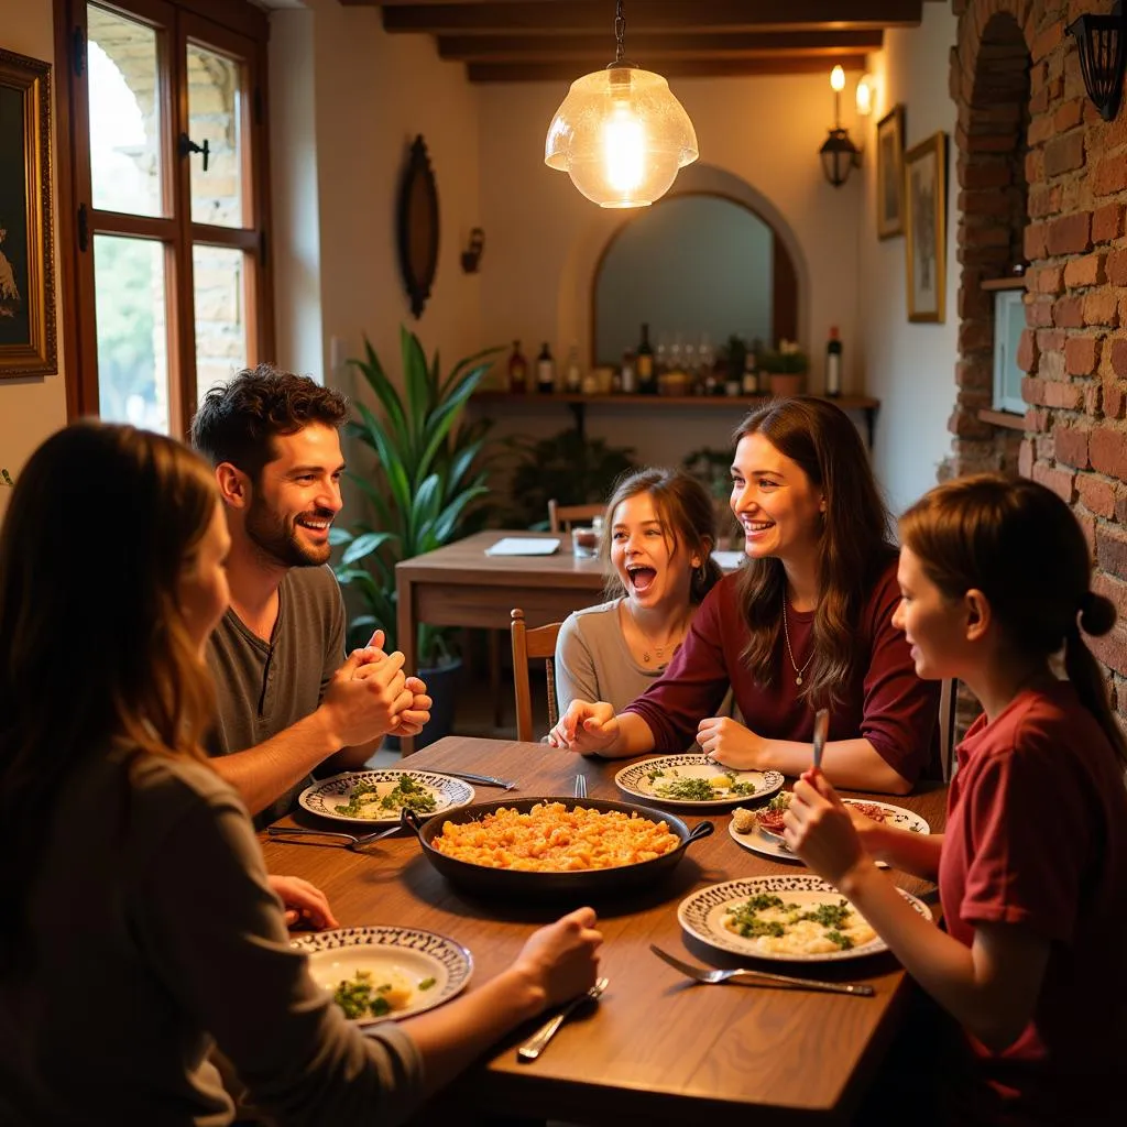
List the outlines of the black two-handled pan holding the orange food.
{"label": "black two-handled pan holding the orange food", "polygon": [[[505,807],[527,814],[539,802],[560,802],[567,809],[582,806],[592,810],[621,810],[624,814],[637,814],[650,822],[664,822],[675,834],[681,844],[662,857],[637,864],[616,866],[613,869],[586,869],[576,872],[527,872],[521,869],[496,869],[491,866],[472,864],[447,857],[434,848],[432,842],[445,827],[447,822],[461,824],[480,822],[487,814],[492,814]],[[675,814],[658,810],[649,806],[636,806],[631,802],[615,802],[602,798],[561,798],[550,796],[543,798],[502,799],[497,802],[478,802],[462,806],[455,810],[436,814],[425,822],[412,810],[402,813],[403,824],[414,829],[423,846],[423,855],[451,884],[464,888],[469,893],[481,896],[509,896],[521,900],[547,900],[554,897],[603,897],[622,893],[639,891],[653,888],[665,880],[684,857],[685,850],[695,841],[708,837],[716,828],[711,822],[701,822],[692,829]]]}

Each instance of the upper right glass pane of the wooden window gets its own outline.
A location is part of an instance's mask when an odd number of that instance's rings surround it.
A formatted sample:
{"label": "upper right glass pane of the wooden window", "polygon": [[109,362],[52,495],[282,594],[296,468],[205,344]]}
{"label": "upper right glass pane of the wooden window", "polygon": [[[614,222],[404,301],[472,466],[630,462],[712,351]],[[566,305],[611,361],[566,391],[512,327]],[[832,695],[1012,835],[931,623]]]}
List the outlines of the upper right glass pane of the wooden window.
{"label": "upper right glass pane of the wooden window", "polygon": [[241,66],[188,44],[188,135],[207,142],[207,171],[193,153],[192,221],[242,227]]}

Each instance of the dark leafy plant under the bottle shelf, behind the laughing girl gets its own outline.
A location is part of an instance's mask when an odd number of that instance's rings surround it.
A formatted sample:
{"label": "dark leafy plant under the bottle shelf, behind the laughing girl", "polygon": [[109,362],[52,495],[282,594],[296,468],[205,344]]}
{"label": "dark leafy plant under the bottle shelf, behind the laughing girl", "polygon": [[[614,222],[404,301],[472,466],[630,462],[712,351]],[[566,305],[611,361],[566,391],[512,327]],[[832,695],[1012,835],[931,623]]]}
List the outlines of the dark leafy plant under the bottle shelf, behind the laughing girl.
{"label": "dark leafy plant under the bottle shelf, behind the laughing girl", "polygon": [[614,481],[636,468],[632,446],[610,446],[574,427],[550,438],[514,436],[505,443],[513,465],[506,524],[548,527],[548,502],[584,505],[606,500]]}

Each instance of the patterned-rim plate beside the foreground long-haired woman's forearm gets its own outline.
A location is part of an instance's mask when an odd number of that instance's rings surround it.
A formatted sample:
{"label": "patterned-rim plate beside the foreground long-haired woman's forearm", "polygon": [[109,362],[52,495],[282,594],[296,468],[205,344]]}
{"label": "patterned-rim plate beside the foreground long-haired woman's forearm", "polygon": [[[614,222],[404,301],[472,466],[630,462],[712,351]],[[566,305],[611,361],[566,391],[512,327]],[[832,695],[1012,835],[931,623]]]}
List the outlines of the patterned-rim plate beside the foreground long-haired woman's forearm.
{"label": "patterned-rim plate beside the foreground long-haired woman's forearm", "polygon": [[433,1010],[470,980],[473,957],[418,928],[338,928],[294,939],[313,982],[357,1024]]}

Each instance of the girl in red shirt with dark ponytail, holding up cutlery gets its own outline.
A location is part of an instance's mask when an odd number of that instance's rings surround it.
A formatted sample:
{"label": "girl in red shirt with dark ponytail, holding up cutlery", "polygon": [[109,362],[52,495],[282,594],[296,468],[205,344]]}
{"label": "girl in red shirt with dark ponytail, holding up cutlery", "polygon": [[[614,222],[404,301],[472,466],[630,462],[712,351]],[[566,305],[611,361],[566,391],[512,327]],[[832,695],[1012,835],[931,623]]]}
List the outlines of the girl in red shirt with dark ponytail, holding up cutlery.
{"label": "girl in red shirt with dark ponytail, holding up cutlery", "polygon": [[[1081,633],[1115,623],[1084,536],[1032,481],[933,489],[900,521],[902,629],[921,677],[958,677],[985,715],[958,748],[947,828],[858,828],[820,772],[787,840],[964,1027],[959,1121],[1127,1121],[1127,745]],[[1062,681],[1050,659],[1063,648]],[[863,819],[862,819],[863,820]],[[938,879],[947,933],[875,861]]]}

